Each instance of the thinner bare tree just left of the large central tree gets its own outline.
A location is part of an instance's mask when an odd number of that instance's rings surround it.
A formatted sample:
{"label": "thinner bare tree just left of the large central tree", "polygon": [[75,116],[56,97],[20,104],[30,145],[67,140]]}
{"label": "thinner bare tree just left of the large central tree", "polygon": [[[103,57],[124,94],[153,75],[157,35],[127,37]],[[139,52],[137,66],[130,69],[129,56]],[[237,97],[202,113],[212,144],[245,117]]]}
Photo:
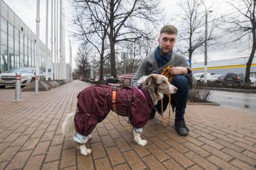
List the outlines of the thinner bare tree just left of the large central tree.
{"label": "thinner bare tree just left of the large central tree", "polygon": [[73,23],[75,28],[73,35],[81,40],[83,44],[90,43],[99,54],[99,80],[103,80],[104,62],[109,57],[109,54],[105,55],[105,50],[109,48],[107,43],[107,18],[98,16],[98,20],[104,20],[99,23],[93,14],[97,14],[99,8],[92,8],[85,1],[73,0]]}

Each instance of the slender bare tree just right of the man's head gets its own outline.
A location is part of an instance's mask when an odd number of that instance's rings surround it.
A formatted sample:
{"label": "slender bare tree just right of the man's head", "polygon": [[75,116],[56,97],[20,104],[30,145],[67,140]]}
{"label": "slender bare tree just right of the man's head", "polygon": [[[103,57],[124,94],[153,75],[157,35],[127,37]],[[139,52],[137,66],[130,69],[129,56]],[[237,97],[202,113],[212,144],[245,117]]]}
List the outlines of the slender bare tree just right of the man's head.
{"label": "slender bare tree just right of the man's head", "polygon": [[[178,49],[181,53],[189,53],[189,59],[192,59],[193,52],[196,49],[201,49],[205,43],[205,11],[202,11],[203,4],[200,0],[184,0],[178,4],[183,13],[181,16],[181,32],[179,33],[179,40],[185,41],[185,50]],[[208,13],[208,11],[207,11]],[[214,29],[216,29],[217,20],[213,20],[208,29],[207,41],[210,41],[209,46],[214,44],[211,40],[215,40],[213,35]]]}

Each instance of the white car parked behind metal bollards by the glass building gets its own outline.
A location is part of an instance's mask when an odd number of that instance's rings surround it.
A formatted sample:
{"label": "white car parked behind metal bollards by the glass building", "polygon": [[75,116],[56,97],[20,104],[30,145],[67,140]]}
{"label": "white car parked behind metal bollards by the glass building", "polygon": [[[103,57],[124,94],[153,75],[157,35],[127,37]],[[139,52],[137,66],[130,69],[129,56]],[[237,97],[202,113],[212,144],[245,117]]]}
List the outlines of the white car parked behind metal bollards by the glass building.
{"label": "white car parked behind metal bollards by the glass building", "polygon": [[[25,87],[29,83],[33,82],[36,77],[36,68],[32,67],[19,67],[13,68],[5,73],[0,74],[0,88],[5,88],[5,86],[15,86],[16,73],[21,73],[21,86]],[[39,70],[39,80],[45,80],[45,75],[43,71]]]}

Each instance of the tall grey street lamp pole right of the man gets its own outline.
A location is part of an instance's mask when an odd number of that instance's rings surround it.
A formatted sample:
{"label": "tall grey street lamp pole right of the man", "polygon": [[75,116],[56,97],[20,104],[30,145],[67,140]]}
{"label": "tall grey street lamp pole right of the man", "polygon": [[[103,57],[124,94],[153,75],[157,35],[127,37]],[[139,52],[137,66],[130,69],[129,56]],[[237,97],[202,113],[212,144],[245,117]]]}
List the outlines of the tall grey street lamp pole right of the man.
{"label": "tall grey street lamp pole right of the man", "polygon": [[207,23],[207,13],[211,13],[213,11],[207,11],[207,8],[205,7],[204,2],[201,0],[202,4],[205,8],[205,40],[204,40],[204,85],[207,85],[207,38],[208,38],[208,23]]}

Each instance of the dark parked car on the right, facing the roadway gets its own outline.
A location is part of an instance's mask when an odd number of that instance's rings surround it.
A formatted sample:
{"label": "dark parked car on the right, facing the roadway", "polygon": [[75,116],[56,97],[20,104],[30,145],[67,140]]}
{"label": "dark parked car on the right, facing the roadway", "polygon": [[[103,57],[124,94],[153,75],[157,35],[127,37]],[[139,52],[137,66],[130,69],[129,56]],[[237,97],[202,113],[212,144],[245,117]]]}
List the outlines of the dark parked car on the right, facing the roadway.
{"label": "dark parked car on the right, facing the roadway", "polygon": [[244,82],[244,73],[227,73],[223,79],[223,85],[242,85]]}

